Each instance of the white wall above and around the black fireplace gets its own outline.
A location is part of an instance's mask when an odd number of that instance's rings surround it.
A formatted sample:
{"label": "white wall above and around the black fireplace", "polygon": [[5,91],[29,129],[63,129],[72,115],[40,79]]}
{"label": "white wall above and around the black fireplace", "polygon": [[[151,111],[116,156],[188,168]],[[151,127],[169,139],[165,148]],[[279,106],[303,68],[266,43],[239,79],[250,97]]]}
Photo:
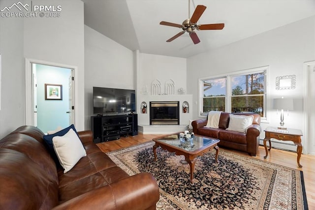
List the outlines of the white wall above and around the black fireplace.
{"label": "white wall above and around the black fireplace", "polygon": [[[180,101],[180,106],[184,101],[188,101],[189,105],[191,102],[191,96],[185,97],[178,96],[177,90],[183,88],[187,92],[186,86],[186,58],[177,58],[170,56],[152,55],[146,53],[139,53],[138,72],[137,72],[137,113],[138,113],[138,124],[139,125],[149,125],[150,117],[149,111],[147,114],[141,113],[141,103],[146,102],[149,109],[150,101]],[[158,79],[161,83],[161,94],[165,93],[165,82],[172,79],[175,83],[174,96],[173,95],[161,95],[161,96],[151,96],[151,83],[153,80]],[[144,86],[148,87],[149,95],[144,94]],[[177,96],[176,96],[177,95]],[[148,110],[147,109],[147,110]],[[189,113],[182,116],[182,111],[180,111],[180,123],[189,124],[189,119],[192,116],[191,108],[189,107]]]}

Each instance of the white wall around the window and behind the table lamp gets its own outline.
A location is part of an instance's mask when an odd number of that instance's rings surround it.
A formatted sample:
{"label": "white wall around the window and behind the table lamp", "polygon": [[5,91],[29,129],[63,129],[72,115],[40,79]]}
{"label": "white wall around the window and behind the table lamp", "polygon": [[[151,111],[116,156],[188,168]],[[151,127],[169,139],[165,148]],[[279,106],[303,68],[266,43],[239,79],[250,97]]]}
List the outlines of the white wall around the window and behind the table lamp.
{"label": "white wall around the window and behind the table lamp", "polygon": [[[305,132],[303,118],[303,63],[315,59],[315,16],[285,25],[283,27],[255,35],[229,44],[219,49],[190,57],[187,60],[187,89],[193,95],[193,102],[198,101],[198,78],[221,75],[226,72],[247,70],[270,66],[269,88],[267,94],[269,105],[274,98],[296,99],[295,110],[284,116],[286,127],[301,129]],[[296,75],[296,88],[293,90],[276,90],[276,77]],[[280,114],[269,107],[267,126],[278,126]],[[198,118],[198,107],[193,107],[193,117]],[[264,138],[264,132],[261,134]],[[302,140],[307,145],[306,140]]]}

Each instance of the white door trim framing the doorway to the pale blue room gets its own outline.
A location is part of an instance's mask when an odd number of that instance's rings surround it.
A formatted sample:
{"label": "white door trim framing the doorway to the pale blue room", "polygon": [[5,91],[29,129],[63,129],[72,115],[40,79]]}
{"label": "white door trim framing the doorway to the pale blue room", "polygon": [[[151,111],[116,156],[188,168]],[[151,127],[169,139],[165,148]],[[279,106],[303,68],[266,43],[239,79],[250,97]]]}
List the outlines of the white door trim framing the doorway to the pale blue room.
{"label": "white door trim framing the doorway to the pale blue room", "polygon": [[74,125],[79,125],[79,113],[76,107],[79,104],[78,97],[78,82],[76,82],[76,75],[78,74],[78,67],[66,64],[59,64],[49,61],[41,61],[36,59],[25,58],[25,122],[26,125],[34,125],[33,114],[33,94],[32,94],[32,63],[42,64],[47,66],[55,66],[73,70],[74,76]]}

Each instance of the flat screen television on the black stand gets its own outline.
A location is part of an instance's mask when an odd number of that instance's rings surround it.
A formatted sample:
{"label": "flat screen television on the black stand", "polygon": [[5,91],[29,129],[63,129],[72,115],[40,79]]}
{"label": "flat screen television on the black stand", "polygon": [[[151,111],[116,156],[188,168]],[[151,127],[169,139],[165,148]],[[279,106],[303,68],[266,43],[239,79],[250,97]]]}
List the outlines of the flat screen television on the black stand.
{"label": "flat screen television on the black stand", "polygon": [[135,90],[93,87],[94,114],[130,114],[135,108]]}

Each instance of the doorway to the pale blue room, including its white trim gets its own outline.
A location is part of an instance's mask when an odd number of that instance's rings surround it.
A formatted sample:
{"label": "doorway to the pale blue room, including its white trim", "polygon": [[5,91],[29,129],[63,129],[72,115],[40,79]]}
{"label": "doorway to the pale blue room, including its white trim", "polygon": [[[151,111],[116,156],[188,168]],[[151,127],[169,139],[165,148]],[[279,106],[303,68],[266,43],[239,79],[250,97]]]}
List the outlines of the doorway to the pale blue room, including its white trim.
{"label": "doorway to the pale blue room, including its white trim", "polygon": [[[77,97],[75,83],[77,67],[33,59],[25,60],[26,124],[38,127],[44,133],[77,124],[74,112]],[[49,86],[52,85],[52,86]],[[49,88],[57,87],[54,97]],[[46,93],[46,96],[45,96]],[[47,97],[48,96],[48,97]]]}

